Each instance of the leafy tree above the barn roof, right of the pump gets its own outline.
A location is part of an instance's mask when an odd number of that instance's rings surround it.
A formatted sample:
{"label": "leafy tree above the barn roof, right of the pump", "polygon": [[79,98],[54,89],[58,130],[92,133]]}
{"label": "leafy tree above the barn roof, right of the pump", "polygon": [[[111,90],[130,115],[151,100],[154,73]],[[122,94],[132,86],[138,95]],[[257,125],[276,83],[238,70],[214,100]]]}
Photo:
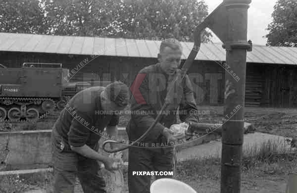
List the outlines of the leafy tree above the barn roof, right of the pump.
{"label": "leafy tree above the barn roof, right of the pump", "polygon": [[297,0],[278,0],[272,17],[266,45],[297,47]]}

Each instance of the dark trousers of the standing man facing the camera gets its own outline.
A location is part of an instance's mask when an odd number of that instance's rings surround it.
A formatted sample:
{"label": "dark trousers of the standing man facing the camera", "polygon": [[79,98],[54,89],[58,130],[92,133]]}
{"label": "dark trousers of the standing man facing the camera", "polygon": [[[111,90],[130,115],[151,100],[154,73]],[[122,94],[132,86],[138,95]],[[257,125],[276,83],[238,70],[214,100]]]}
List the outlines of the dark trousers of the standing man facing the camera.
{"label": "dark trousers of the standing man facing the camera", "polygon": [[[167,147],[170,148],[170,147]],[[166,149],[167,150],[167,149]],[[128,188],[129,193],[149,193],[150,175],[133,175],[135,172],[173,171],[173,150],[160,151],[148,148],[129,147]],[[156,175],[155,179],[172,178],[169,175]]]}

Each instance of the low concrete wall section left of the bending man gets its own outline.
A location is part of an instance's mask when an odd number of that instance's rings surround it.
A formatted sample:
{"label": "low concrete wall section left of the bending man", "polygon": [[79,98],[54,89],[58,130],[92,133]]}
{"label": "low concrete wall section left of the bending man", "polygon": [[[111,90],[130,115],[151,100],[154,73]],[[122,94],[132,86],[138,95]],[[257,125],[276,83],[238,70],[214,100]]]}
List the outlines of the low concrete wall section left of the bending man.
{"label": "low concrete wall section left of the bending man", "polygon": [[0,133],[0,168],[43,167],[51,161],[51,130]]}

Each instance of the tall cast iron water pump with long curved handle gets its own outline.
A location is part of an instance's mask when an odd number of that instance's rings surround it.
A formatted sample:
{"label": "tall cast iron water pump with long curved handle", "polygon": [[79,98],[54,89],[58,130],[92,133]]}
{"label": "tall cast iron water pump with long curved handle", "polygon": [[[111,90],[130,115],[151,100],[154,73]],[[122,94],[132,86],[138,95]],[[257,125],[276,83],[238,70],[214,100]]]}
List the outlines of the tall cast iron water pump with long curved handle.
{"label": "tall cast iron water pump with long curved handle", "polygon": [[[198,48],[200,48],[200,32],[208,27],[224,43],[223,48],[226,49],[226,64],[240,78],[239,80],[235,79],[234,75],[226,69],[224,115],[228,119],[222,125],[221,193],[240,193],[241,187],[246,62],[247,51],[251,51],[251,42],[247,42],[247,9],[250,2],[251,0],[224,0],[211,12],[195,30],[194,47],[181,68],[182,77],[184,78],[198,53]],[[161,108],[161,112],[167,106],[166,101]],[[158,114],[154,123],[133,144],[111,151],[105,149],[107,143],[121,144],[121,142],[106,141],[103,143],[103,149],[107,152],[116,152],[141,142],[158,122],[161,115],[162,113]],[[199,124],[192,125],[190,128],[192,130],[191,132],[201,130]]]}

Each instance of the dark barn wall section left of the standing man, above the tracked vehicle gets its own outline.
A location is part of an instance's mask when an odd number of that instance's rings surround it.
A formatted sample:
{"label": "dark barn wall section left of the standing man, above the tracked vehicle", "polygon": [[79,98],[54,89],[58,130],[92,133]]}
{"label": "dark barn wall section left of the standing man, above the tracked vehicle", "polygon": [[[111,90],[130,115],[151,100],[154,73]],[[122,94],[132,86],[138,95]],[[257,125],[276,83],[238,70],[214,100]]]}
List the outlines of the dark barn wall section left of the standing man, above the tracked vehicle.
{"label": "dark barn wall section left of the standing man, above the tracked vehicle", "polygon": [[[0,52],[0,64],[7,67],[21,67],[24,62],[62,63],[68,68],[69,82],[121,80],[132,84],[137,72],[144,66],[156,63],[155,58],[131,58],[91,55],[44,54],[23,52]],[[80,63],[87,63],[80,67]],[[79,70],[77,70],[79,69]],[[75,72],[75,75],[73,75]]]}

